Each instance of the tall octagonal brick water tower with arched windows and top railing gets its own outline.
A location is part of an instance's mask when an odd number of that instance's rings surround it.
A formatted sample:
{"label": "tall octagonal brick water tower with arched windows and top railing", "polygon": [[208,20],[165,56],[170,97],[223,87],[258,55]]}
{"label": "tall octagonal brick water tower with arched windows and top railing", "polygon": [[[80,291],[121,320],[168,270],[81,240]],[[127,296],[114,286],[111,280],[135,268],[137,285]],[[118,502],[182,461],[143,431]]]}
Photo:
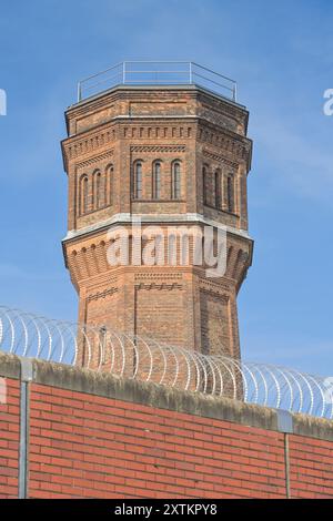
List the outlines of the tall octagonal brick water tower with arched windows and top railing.
{"label": "tall octagonal brick water tower with arched windows and top railing", "polygon": [[[194,63],[124,62],[80,83],[62,142],[63,252],[80,323],[240,357],[236,295],[253,247],[248,119],[234,82]],[[167,254],[154,265],[133,262],[139,217],[165,236],[170,227],[226,231],[223,274],[211,277],[194,263],[194,238],[188,264]],[[119,227],[129,231],[130,254],[115,265],[108,248]]]}

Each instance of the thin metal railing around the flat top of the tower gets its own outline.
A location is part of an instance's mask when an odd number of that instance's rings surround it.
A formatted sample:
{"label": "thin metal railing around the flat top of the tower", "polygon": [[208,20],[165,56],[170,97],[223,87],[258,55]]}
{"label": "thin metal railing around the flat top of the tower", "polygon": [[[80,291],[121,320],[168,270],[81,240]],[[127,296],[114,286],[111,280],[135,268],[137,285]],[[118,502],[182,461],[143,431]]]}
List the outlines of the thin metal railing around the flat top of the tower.
{"label": "thin metal railing around the flat top of the tower", "polygon": [[78,83],[78,101],[117,85],[199,85],[236,101],[236,82],[191,61],[123,61]]}

